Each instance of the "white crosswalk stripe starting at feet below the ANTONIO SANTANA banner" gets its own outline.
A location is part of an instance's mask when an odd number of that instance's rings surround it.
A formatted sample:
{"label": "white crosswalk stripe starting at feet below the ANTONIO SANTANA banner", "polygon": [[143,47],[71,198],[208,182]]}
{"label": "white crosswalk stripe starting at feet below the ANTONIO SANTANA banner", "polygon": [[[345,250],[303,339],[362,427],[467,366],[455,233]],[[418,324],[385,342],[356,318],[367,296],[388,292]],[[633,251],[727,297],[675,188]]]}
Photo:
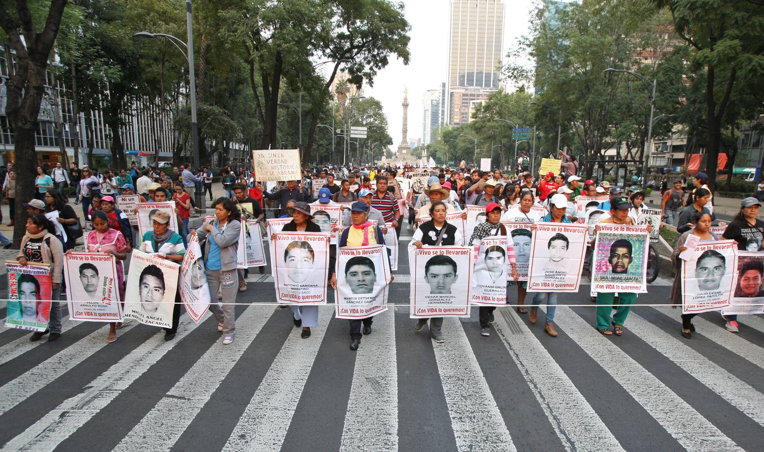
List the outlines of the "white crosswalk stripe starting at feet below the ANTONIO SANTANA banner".
{"label": "white crosswalk stripe starting at feet below the ANTONIO SANTANA banner", "polygon": [[332,318],[334,312],[319,315],[319,323],[311,328],[310,341],[300,337],[299,328],[293,329],[271,362],[260,386],[257,386],[249,405],[241,413],[223,450],[238,452],[281,448]]}

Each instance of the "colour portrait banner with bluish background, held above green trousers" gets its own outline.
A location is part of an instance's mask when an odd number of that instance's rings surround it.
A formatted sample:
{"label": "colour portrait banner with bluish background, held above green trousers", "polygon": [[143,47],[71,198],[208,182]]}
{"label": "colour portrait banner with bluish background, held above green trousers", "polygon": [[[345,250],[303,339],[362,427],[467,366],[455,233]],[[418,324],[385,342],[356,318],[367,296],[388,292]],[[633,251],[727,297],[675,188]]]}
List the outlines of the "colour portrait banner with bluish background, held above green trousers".
{"label": "colour portrait banner with bluish background, held above green trousers", "polygon": [[593,290],[646,293],[648,237],[645,226],[600,224],[592,257]]}

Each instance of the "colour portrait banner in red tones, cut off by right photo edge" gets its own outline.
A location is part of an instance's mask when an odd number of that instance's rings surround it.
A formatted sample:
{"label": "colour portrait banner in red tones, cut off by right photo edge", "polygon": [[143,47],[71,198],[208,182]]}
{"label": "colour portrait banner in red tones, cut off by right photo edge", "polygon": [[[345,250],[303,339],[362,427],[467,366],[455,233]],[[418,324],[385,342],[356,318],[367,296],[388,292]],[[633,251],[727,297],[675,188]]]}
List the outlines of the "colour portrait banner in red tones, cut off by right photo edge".
{"label": "colour portrait banner in red tones, cut off by right photo edge", "polygon": [[764,251],[737,251],[735,292],[721,313],[764,314]]}

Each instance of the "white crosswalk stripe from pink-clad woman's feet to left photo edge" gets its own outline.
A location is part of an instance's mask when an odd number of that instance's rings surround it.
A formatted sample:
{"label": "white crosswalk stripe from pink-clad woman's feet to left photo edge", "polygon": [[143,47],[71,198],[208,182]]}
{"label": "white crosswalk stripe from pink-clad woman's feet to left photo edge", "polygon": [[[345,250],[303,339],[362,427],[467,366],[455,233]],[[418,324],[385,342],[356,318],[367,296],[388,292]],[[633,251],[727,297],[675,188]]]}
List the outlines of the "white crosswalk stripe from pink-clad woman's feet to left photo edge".
{"label": "white crosswalk stripe from pink-clad woman's feet to left photo edge", "polygon": [[[121,331],[127,331],[134,327],[135,324],[138,324],[138,322],[125,325]],[[0,394],[5,394],[5,396],[0,397],[0,415],[23,402],[24,399],[27,399],[34,392],[44,388],[54,379],[72,370],[74,366],[82,363],[98,350],[101,350],[106,345],[107,335],[108,324],[105,324],[102,328],[93,331],[75,344],[53,355],[53,357],[37,364],[37,366],[32,367],[12,381],[5,383],[0,388]],[[24,390],[19,391],[17,390],[18,388],[24,388]]]}

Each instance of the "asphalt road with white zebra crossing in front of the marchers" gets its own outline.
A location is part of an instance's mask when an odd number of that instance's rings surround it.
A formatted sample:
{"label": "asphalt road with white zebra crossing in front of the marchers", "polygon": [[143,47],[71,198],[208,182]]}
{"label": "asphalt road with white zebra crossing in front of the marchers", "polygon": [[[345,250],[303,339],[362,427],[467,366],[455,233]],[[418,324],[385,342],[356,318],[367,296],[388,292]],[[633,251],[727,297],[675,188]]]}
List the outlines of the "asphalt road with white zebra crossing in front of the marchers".
{"label": "asphalt road with white zebra crossing in front of the marchers", "polygon": [[[400,304],[404,256],[390,290]],[[226,346],[209,314],[199,324],[184,314],[169,342],[136,322],[114,344],[93,322],[65,321],[52,343],[3,330],[0,447],[764,450],[764,318],[741,316],[732,334],[707,313],[686,340],[678,310],[646,306],[667,302],[664,279],[639,296],[622,337],[594,330],[582,285],[560,299],[558,337],[511,308],[482,337],[474,309],[446,319],[435,344],[427,328],[413,331],[407,306],[392,306],[351,351],[332,306],[301,339],[290,309],[264,304],[274,302],[267,273],[251,273],[238,297],[251,305],[237,306]]]}

